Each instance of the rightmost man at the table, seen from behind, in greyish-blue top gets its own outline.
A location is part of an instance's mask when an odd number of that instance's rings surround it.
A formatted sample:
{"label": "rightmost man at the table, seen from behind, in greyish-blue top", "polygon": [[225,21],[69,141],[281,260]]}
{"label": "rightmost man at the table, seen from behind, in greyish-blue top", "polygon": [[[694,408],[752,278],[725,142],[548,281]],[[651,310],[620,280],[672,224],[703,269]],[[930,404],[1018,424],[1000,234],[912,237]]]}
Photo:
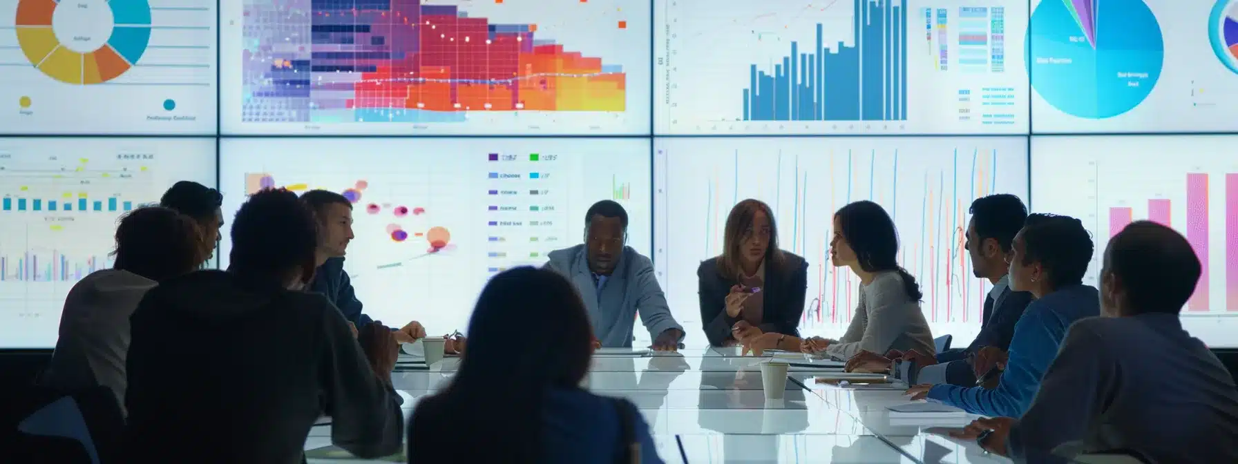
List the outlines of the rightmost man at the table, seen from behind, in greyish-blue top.
{"label": "rightmost man at the table, seen from behind, in greyish-blue top", "polygon": [[1099,318],[1075,322],[1031,407],[978,419],[976,437],[1015,462],[1120,453],[1149,463],[1238,463],[1238,390],[1179,320],[1201,264],[1181,234],[1135,221],[1109,240]]}

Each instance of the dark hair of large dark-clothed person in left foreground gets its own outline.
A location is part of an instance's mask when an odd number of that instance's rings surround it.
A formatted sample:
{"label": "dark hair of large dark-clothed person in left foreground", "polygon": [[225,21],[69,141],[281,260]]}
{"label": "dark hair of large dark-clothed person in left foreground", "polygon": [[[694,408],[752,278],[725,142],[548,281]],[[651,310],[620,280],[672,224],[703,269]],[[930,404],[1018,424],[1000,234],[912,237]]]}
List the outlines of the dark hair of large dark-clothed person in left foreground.
{"label": "dark hair of large dark-clothed person in left foreground", "polygon": [[236,210],[229,269],[275,275],[313,262],[318,223],[296,193],[265,189]]}

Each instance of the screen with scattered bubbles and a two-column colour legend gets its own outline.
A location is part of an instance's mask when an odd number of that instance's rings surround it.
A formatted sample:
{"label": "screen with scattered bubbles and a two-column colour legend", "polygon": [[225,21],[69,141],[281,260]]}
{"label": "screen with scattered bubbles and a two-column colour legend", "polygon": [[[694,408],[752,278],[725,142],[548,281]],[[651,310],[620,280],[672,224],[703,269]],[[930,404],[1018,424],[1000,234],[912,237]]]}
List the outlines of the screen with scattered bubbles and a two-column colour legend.
{"label": "screen with scattered bubbles and a two-column colour legend", "polygon": [[[225,139],[224,217],[265,187],[353,202],[344,269],[365,313],[464,330],[490,276],[546,262],[584,239],[584,213],[613,199],[629,245],[650,250],[647,139]],[[227,267],[230,240],[220,255]]]}

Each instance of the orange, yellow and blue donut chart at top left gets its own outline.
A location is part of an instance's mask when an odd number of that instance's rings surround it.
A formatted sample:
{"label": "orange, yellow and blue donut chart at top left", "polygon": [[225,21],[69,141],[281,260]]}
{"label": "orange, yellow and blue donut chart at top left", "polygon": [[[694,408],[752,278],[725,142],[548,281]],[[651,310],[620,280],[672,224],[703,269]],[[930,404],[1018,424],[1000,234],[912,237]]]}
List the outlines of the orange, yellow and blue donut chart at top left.
{"label": "orange, yellow and blue donut chart at top left", "polygon": [[146,0],[19,0],[17,43],[38,71],[67,84],[115,79],[146,52]]}

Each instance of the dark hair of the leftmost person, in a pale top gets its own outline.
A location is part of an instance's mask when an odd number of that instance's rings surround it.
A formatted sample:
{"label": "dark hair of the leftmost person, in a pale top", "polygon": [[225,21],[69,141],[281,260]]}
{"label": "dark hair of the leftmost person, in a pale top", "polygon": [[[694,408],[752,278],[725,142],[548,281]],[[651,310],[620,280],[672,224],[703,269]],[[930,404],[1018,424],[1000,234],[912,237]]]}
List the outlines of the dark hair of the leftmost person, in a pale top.
{"label": "dark hair of the leftmost person, in a pale top", "polygon": [[113,267],[156,282],[189,273],[207,259],[197,223],[171,208],[154,205],[120,218],[111,256]]}

